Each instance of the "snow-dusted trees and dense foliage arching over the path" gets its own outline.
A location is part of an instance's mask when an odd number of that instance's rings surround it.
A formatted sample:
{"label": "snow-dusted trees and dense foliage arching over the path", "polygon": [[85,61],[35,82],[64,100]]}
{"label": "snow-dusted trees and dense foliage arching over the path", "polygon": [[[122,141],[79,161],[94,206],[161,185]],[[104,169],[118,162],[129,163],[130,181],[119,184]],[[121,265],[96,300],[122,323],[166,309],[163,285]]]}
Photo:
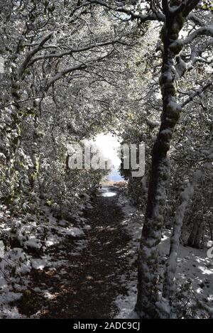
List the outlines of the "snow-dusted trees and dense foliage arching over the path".
{"label": "snow-dusted trees and dense foliage arching over the path", "polygon": [[[70,170],[70,144],[108,131],[143,142],[143,178],[121,165],[145,214],[136,312],[175,317],[179,243],[203,249],[213,240],[211,1],[1,0],[0,12],[1,217],[12,224],[0,235],[5,248],[13,251],[14,238],[30,247],[21,224],[30,237],[33,216],[40,249],[46,207],[60,221],[88,204],[106,172]],[[163,229],[172,236],[159,283]]]}

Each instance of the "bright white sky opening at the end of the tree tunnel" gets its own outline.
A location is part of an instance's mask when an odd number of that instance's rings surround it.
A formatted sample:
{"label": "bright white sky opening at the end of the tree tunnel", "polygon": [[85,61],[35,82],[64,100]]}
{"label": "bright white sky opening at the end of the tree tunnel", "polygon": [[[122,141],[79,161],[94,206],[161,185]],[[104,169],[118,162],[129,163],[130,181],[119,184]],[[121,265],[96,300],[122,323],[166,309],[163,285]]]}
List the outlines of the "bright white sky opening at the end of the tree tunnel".
{"label": "bright white sky opening at the end of the tree tunnel", "polygon": [[94,139],[94,143],[97,145],[100,151],[102,151],[105,158],[109,158],[114,165],[114,168],[119,168],[121,160],[117,154],[117,149],[120,146],[118,138],[111,133],[98,134]]}

